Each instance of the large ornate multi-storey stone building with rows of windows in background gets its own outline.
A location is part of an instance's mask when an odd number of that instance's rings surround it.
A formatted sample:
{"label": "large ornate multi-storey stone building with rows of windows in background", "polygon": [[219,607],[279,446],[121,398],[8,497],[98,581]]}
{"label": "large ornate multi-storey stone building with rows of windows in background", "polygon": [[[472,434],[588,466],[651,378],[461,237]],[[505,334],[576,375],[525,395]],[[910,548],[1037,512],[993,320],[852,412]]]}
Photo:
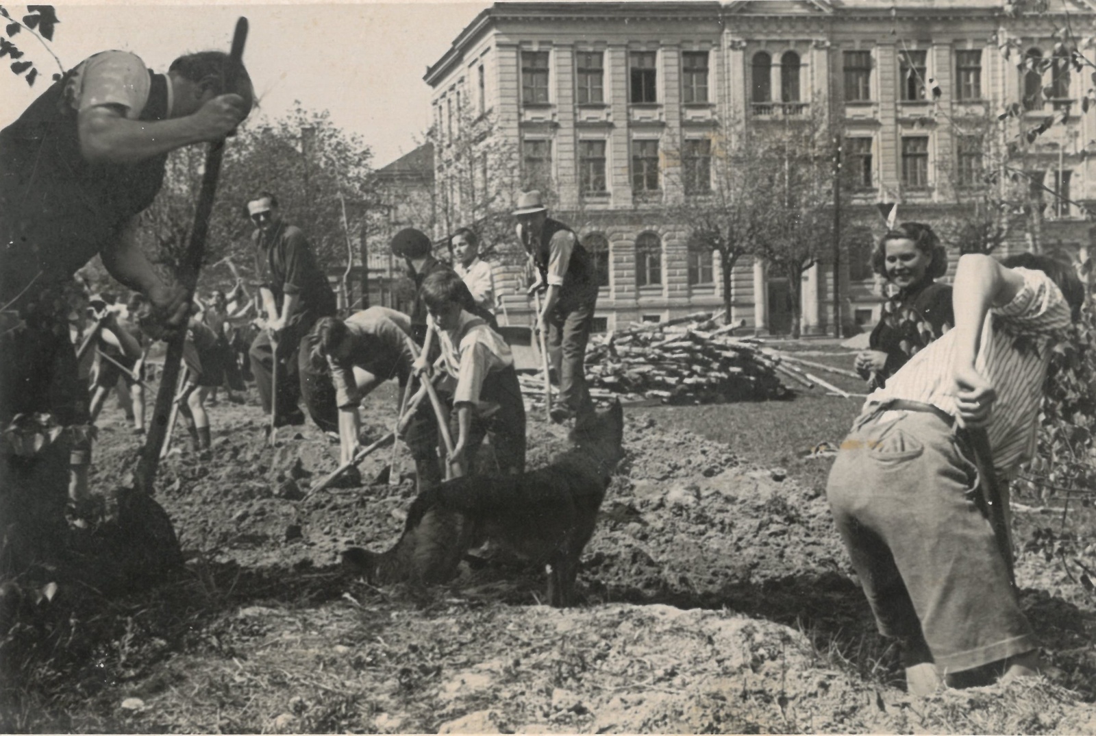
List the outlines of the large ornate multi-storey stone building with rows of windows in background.
{"label": "large ornate multi-storey stone building with rows of windows in background", "polygon": [[[1077,37],[1092,34],[1088,0],[499,2],[426,71],[438,202],[452,222],[479,220],[486,205],[468,214],[469,186],[550,190],[602,267],[604,328],[719,309],[718,260],[689,249],[689,223],[664,204],[708,194],[713,141],[822,121],[843,140],[843,322],[870,325],[881,295],[868,264],[884,227],[878,203],[898,202],[899,219],[943,234],[975,203],[1000,205],[982,175],[997,169],[991,189],[1018,180],[1039,210],[1006,213],[1014,222],[1000,250],[1025,247],[1031,231],[1044,249],[1087,250],[1096,128],[1081,101],[1093,84],[1091,69],[1054,56],[1066,12]],[[1008,148],[1011,135],[1051,116],[1038,138]],[[463,189],[461,159],[487,145],[509,146],[513,163],[496,171],[484,155],[479,172],[465,160]],[[505,201],[493,204],[501,212]],[[785,331],[790,287],[741,259],[731,319]],[[833,331],[832,288],[826,262],[803,275],[804,332]]]}

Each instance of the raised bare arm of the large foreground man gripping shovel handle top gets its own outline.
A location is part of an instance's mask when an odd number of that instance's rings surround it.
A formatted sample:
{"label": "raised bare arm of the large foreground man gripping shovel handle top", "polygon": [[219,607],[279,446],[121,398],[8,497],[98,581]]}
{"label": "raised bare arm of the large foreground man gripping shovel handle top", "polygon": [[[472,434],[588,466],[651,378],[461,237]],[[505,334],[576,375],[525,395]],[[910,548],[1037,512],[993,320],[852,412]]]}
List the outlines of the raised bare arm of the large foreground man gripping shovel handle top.
{"label": "raised bare arm of the large foreground man gripping shovel handle top", "polygon": [[[170,82],[169,82],[170,83]],[[244,117],[239,94],[221,94],[193,115],[165,121],[135,121],[117,105],[81,110],[77,116],[80,152],[91,163],[136,163],[207,140],[220,140]]]}

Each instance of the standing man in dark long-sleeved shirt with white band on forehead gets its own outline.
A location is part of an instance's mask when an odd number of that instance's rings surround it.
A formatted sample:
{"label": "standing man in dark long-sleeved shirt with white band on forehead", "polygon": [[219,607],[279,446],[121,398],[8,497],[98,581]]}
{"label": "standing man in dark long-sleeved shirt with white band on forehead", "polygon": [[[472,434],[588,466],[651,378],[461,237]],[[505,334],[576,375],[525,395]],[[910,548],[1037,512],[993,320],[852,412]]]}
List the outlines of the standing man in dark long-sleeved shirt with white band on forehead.
{"label": "standing man in dark long-sleeved shirt with white band on forehead", "polygon": [[[248,202],[248,215],[255,225],[251,240],[261,283],[259,295],[266,313],[266,329],[251,343],[251,371],[263,407],[274,411],[274,424],[301,424],[305,415],[297,406],[300,395],[309,405],[327,405],[311,394],[330,390],[330,384],[312,380],[309,356],[297,347],[317,319],[334,316],[335,295],[305,234],[282,219],[277,197],[261,192]],[[272,336],[277,343],[277,386],[272,385]]]}

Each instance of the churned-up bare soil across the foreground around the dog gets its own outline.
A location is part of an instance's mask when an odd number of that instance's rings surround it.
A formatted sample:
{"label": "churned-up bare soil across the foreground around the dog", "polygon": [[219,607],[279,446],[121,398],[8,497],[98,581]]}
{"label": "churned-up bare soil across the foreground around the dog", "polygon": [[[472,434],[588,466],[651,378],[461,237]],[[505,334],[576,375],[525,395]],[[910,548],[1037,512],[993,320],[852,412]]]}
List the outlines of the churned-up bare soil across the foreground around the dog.
{"label": "churned-up bare soil across the foreground around the dog", "polygon": [[[375,437],[393,404],[389,387],[370,397]],[[845,406],[850,422],[857,407]],[[38,603],[42,621],[9,634],[21,669],[9,668],[0,729],[1096,733],[1096,601],[1059,555],[1072,544],[1093,561],[1088,509],[1072,531],[1054,509],[1017,514],[1019,585],[1048,675],[913,699],[823,488],[658,410],[626,411],[627,457],[569,610],[543,604],[541,570],[507,559],[466,563],[427,589],[343,573],[347,546],[398,537],[413,496],[406,453],[396,485],[306,497],[335,465],[329,438],[288,428],[267,446],[253,396],[210,416],[212,458],[175,451],[158,483],[185,570],[152,591]],[[138,439],[113,407],[101,423],[92,483],[122,485]],[[530,411],[529,466],[563,446]],[[363,476],[391,458],[374,454]]]}

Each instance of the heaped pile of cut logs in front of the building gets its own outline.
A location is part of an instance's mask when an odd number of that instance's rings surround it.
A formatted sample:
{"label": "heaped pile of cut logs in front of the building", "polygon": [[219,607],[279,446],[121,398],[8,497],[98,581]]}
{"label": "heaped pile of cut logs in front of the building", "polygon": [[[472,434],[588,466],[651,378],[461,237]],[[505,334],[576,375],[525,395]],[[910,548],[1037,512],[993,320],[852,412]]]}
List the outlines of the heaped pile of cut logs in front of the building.
{"label": "heaped pile of cut logs in front of the building", "polygon": [[776,362],[761,342],[731,336],[711,313],[644,322],[591,341],[586,381],[595,398],[712,404],[781,398]]}

